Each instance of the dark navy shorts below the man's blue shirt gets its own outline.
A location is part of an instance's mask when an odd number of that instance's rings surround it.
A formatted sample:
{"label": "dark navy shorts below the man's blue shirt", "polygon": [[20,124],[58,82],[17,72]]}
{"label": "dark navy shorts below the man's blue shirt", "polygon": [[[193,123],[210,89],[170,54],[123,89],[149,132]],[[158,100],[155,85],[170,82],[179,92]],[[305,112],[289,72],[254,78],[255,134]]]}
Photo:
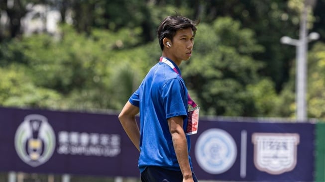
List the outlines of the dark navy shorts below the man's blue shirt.
{"label": "dark navy shorts below the man's blue shirt", "polygon": [[[193,172],[192,175],[194,182],[198,182]],[[141,173],[141,182],[183,182],[183,175],[181,171],[149,166]]]}

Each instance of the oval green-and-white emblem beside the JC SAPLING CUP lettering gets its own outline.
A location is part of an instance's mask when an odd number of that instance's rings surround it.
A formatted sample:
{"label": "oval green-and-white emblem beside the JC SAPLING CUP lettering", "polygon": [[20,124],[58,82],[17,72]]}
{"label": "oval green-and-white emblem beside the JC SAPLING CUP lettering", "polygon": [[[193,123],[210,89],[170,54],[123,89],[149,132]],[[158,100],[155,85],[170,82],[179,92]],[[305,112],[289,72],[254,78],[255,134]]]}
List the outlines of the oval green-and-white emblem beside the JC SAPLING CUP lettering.
{"label": "oval green-and-white emblem beside the JC SAPLING CUP lettering", "polygon": [[31,114],[17,128],[14,142],[19,158],[37,167],[51,158],[55,148],[55,134],[46,117]]}

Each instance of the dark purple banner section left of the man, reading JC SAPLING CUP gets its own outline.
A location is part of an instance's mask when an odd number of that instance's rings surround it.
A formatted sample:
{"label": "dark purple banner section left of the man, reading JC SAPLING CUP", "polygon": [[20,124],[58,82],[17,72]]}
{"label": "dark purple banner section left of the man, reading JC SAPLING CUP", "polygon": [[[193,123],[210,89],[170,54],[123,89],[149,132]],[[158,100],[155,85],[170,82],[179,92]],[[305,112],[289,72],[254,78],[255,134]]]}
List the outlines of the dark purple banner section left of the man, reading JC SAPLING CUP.
{"label": "dark purple banner section left of the man, reading JC SAPLING CUP", "polygon": [[116,115],[0,108],[0,171],[139,176]]}

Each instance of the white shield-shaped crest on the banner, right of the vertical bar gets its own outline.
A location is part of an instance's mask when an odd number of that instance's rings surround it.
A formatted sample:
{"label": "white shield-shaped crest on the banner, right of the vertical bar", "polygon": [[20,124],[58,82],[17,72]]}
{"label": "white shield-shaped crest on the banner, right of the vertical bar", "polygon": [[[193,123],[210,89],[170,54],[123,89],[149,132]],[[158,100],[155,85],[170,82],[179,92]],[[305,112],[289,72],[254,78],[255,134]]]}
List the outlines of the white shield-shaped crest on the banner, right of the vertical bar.
{"label": "white shield-shaped crest on the banner, right of the vertical bar", "polygon": [[299,135],[296,133],[254,133],[255,167],[271,175],[280,175],[291,171],[297,164],[297,145]]}

